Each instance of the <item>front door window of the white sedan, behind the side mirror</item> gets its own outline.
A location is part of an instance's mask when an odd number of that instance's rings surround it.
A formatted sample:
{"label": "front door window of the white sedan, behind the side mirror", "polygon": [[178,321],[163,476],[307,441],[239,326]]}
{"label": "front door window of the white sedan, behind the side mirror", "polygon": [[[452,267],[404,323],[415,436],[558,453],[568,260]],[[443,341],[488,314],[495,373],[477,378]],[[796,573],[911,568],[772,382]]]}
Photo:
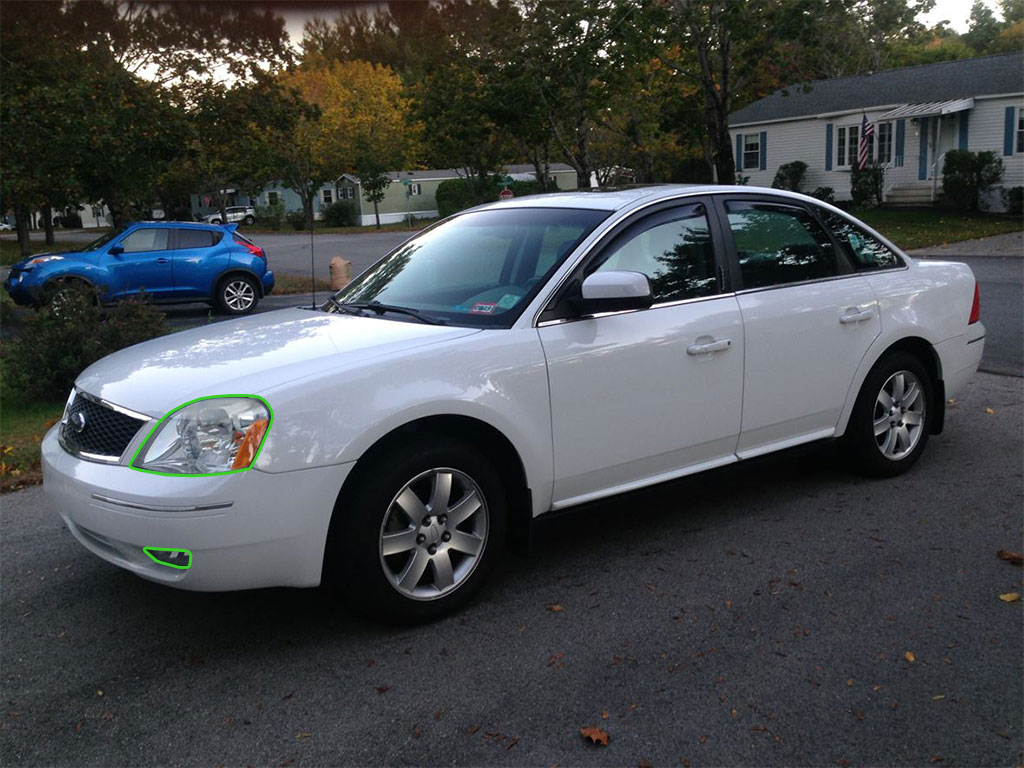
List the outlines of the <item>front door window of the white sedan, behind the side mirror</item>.
{"label": "front door window of the white sedan, behind the side mirror", "polygon": [[655,303],[718,293],[715,249],[703,206],[688,206],[671,216],[627,232],[623,242],[612,245],[597,271],[643,272]]}

